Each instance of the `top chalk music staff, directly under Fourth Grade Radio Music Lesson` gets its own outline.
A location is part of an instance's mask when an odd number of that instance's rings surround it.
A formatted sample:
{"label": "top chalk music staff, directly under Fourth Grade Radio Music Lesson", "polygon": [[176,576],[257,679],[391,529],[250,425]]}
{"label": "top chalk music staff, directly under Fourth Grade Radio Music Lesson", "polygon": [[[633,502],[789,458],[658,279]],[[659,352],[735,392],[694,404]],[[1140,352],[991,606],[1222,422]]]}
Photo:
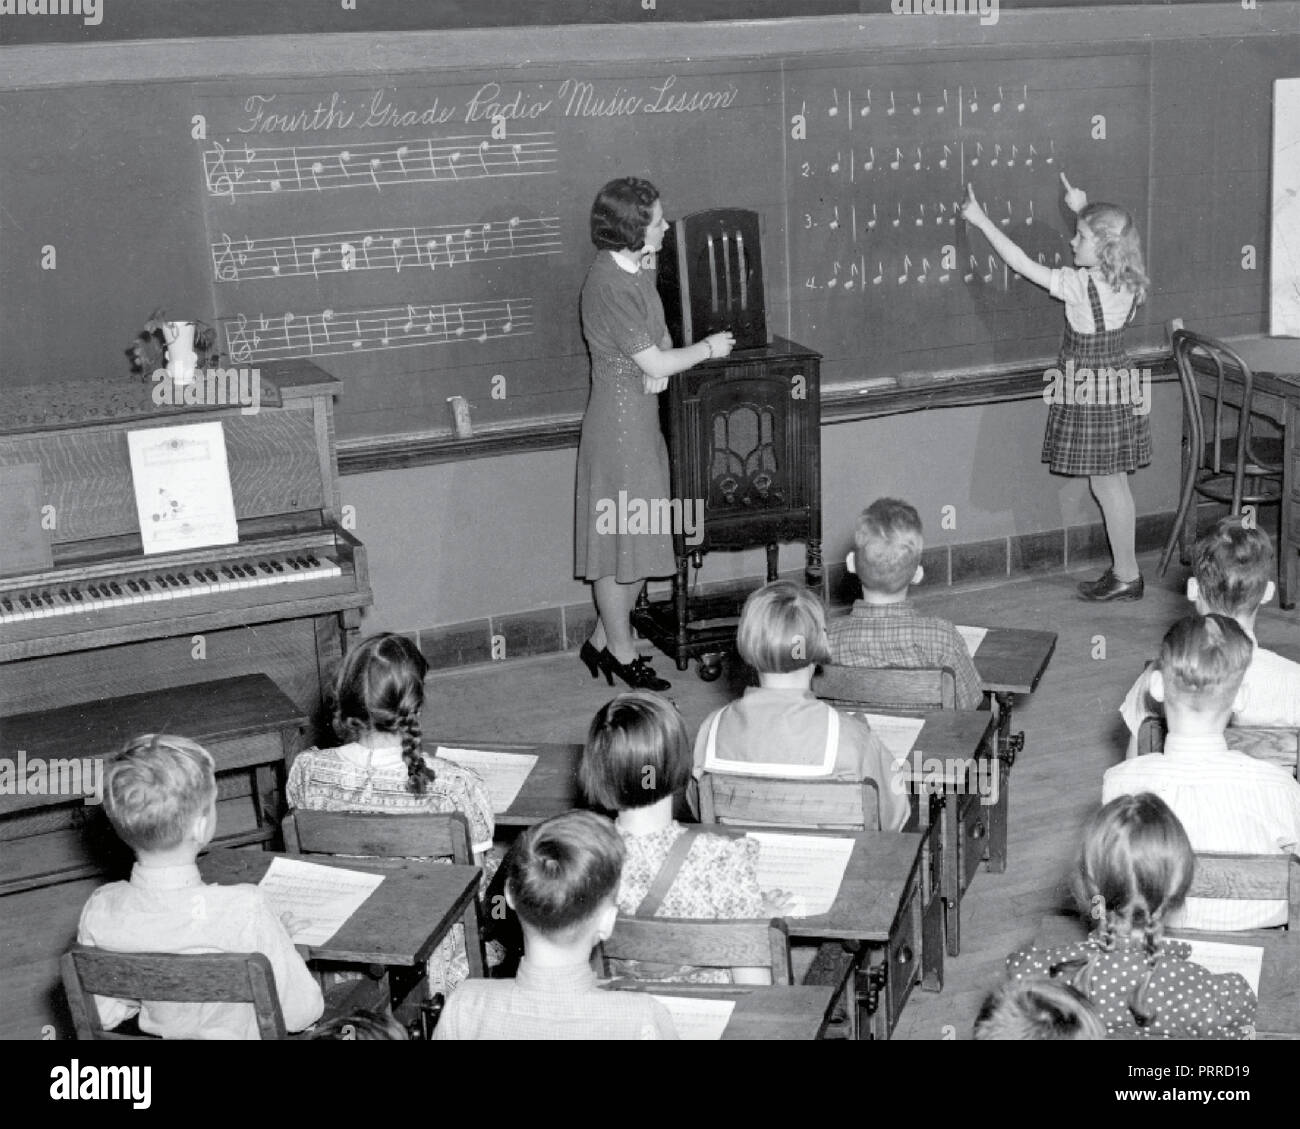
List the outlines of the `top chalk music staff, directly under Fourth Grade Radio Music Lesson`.
{"label": "top chalk music staff, directly under Fourth Grade Radio Music Lesson", "polygon": [[503,140],[464,135],[230,150],[214,142],[203,153],[208,195],[231,202],[261,193],[384,191],[391,185],[542,176],[554,173],[558,163],[551,130]]}

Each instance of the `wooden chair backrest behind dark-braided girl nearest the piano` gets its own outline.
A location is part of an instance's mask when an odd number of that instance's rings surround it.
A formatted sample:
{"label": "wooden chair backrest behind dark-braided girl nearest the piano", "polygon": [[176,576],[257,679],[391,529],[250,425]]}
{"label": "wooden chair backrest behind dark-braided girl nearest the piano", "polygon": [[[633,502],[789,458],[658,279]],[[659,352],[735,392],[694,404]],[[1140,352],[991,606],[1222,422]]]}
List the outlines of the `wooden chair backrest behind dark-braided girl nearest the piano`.
{"label": "wooden chair backrest behind dark-braided girl nearest the piano", "polygon": [[460,812],[385,816],[372,812],[290,812],[281,825],[290,855],[451,858],[473,865],[469,823]]}

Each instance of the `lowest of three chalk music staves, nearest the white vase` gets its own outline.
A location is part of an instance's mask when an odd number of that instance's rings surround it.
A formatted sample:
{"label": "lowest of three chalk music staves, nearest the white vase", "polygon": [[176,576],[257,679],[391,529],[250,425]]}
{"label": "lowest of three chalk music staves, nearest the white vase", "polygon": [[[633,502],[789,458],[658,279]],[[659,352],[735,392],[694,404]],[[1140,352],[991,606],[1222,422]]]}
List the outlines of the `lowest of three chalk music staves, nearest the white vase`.
{"label": "lowest of three chalk music staves, nearest the white vase", "polygon": [[533,332],[533,299],[447,302],[320,313],[238,313],[221,319],[226,350],[235,364],[415,349]]}

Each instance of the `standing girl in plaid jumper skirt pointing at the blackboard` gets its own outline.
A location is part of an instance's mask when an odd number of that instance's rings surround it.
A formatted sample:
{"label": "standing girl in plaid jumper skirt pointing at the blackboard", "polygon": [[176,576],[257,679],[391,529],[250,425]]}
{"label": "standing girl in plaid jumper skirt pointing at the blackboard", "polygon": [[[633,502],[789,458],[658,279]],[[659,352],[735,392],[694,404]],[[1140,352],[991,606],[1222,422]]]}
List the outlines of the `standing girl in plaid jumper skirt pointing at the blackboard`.
{"label": "standing girl in plaid jumper skirt pointing at the blackboard", "polygon": [[[1141,243],[1132,216],[1115,204],[1089,204],[1065,173],[1065,202],[1078,215],[1075,268],[1052,269],[1034,261],[984,215],[967,186],[962,217],[984,233],[1017,274],[1065,302],[1061,375],[1048,408],[1043,462],[1057,475],[1087,476],[1101,507],[1113,564],[1098,580],[1079,585],[1084,600],[1141,600],[1143,579],[1135,546],[1136,511],[1128,475],[1150,462],[1150,403],[1131,394],[1139,385],[1124,352],[1124,329],[1147,298]],[[1122,376],[1102,376],[1108,369]],[[1080,395],[1075,395],[1075,386]],[[1143,385],[1149,389],[1149,382]],[[1063,399],[1063,402],[1061,402]],[[1083,401],[1083,402],[1080,402]],[[1136,402],[1135,402],[1136,401]]]}

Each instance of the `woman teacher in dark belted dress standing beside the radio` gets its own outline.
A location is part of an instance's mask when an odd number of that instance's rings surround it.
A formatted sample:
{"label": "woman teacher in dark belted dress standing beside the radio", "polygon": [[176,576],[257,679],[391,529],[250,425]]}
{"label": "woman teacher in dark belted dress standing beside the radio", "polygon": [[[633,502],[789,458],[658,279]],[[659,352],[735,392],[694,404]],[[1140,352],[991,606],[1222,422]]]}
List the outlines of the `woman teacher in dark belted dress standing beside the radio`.
{"label": "woman teacher in dark belted dress standing beside the radio", "polygon": [[[659,393],[668,379],[736,339],[714,333],[673,349],[655,290],[654,255],[668,224],[649,181],[610,181],[592,206],[595,260],[582,284],[582,334],[592,354],[592,394],[577,447],[575,571],[595,589],[595,631],[578,657],[593,678],[667,689],[632,643],[632,609],[647,576],[676,568],[671,531],[627,532],[629,506],[667,512],[668,447],[659,429]],[[619,529],[624,532],[619,532]],[[640,527],[638,527],[640,529]]]}

